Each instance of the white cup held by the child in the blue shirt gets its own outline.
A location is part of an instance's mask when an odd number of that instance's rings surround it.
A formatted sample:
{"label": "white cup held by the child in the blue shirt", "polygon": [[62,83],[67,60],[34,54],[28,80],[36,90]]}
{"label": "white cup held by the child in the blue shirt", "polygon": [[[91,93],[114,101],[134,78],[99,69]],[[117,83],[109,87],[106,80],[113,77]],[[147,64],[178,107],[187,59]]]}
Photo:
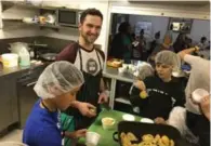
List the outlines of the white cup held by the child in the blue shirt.
{"label": "white cup held by the child in the blue shirt", "polygon": [[101,135],[96,132],[88,132],[85,134],[87,146],[97,146]]}

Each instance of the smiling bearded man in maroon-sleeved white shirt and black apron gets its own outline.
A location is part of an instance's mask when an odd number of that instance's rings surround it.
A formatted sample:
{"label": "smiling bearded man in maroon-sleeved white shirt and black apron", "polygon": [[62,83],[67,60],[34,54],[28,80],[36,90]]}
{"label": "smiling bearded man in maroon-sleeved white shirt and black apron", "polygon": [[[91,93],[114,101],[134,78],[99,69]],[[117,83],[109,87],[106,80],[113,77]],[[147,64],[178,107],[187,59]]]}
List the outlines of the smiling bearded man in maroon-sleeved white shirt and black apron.
{"label": "smiling bearded man in maroon-sleeved white shirt and black apron", "polygon": [[[80,16],[79,40],[67,45],[56,57],[57,61],[72,63],[84,77],[84,84],[77,94],[77,101],[83,104],[82,115],[72,107],[65,111],[67,115],[74,116],[76,130],[88,128],[100,111],[100,104],[108,101],[102,78],[105,55],[94,45],[100,36],[102,23],[103,15],[98,10],[84,10]],[[88,104],[85,105],[85,103]],[[96,107],[97,112],[90,110],[92,105]]]}

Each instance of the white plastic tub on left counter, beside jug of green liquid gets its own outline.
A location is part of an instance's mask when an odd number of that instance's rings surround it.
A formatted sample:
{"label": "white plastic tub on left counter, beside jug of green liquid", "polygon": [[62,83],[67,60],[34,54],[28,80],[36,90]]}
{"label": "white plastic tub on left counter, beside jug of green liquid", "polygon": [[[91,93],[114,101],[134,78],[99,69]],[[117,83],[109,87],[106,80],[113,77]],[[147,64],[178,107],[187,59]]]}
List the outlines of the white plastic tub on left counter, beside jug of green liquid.
{"label": "white plastic tub on left counter, beside jug of green liquid", "polygon": [[6,53],[1,55],[3,67],[18,66],[18,55],[14,53]]}

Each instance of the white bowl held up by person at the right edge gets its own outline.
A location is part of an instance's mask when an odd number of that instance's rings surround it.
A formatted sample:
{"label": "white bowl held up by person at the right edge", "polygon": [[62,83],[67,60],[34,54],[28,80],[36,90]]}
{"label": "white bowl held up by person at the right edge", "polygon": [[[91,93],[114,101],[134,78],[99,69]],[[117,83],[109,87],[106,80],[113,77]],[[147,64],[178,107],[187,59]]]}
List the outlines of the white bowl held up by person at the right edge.
{"label": "white bowl held up by person at the right edge", "polygon": [[200,103],[206,95],[209,95],[209,92],[203,89],[197,89],[192,93],[192,97],[196,103]]}

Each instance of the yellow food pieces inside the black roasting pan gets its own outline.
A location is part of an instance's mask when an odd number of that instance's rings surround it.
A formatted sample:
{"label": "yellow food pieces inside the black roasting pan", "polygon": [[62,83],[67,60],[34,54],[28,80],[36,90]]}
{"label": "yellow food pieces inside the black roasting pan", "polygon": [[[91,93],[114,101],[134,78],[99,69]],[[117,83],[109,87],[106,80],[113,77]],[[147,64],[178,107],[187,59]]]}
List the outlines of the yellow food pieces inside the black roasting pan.
{"label": "yellow food pieces inside the black roasting pan", "polygon": [[[120,134],[122,146],[174,146],[174,141],[170,140],[167,135],[151,135],[145,134],[141,137],[141,142],[137,142],[137,137],[129,132],[121,132]],[[133,143],[135,142],[135,143]],[[137,142],[137,143],[136,143]]]}

